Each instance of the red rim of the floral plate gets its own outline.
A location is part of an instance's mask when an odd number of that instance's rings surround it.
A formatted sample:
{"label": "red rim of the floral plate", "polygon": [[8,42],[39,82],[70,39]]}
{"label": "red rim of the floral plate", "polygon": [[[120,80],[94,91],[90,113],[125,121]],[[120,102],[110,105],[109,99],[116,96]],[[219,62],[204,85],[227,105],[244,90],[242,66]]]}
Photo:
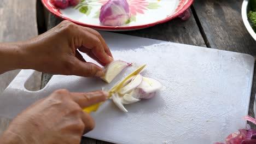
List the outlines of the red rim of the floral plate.
{"label": "red rim of the floral plate", "polygon": [[126,30],[127,31],[127,30],[133,30],[133,29],[141,29],[141,28],[152,27],[152,26],[158,25],[160,23],[164,23],[164,22],[170,21],[172,19],[175,19],[176,17],[178,17],[182,13],[184,13],[185,10],[189,9],[189,7],[194,2],[194,0],[189,0],[188,3],[185,4],[181,10],[179,10],[174,15],[168,16],[164,20],[156,21],[156,22],[153,22],[153,23],[148,23],[147,25],[127,26],[127,27],[110,27],[110,26],[88,25],[88,24],[85,24],[85,23],[82,23],[82,22],[79,22],[79,21],[75,21],[75,20],[69,19],[68,17],[61,16],[59,13],[56,13],[56,11],[54,11],[53,8],[48,4],[48,0],[41,0],[41,1],[43,3],[44,7],[46,9],[48,9],[50,11],[50,13],[52,13],[53,15],[59,17],[62,20],[69,20],[69,21],[72,21],[74,23],[77,23],[80,26],[86,26],[86,27],[95,28],[95,29],[101,29],[101,30],[110,30],[110,31],[111,30],[112,31],[115,31],[115,30],[124,30],[124,31]]}

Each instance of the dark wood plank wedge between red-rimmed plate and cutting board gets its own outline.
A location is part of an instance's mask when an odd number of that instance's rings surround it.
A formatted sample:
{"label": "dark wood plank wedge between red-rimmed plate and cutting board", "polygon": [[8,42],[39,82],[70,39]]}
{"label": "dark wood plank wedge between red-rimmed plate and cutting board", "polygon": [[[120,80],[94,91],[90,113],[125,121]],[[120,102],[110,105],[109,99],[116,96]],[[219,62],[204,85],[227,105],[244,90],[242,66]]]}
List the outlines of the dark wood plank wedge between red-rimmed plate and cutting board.
{"label": "dark wood plank wedge between red-rimmed plate and cutting board", "polygon": [[119,33],[171,41],[174,43],[206,46],[193,15],[191,15],[190,19],[187,21],[174,19],[154,27]]}

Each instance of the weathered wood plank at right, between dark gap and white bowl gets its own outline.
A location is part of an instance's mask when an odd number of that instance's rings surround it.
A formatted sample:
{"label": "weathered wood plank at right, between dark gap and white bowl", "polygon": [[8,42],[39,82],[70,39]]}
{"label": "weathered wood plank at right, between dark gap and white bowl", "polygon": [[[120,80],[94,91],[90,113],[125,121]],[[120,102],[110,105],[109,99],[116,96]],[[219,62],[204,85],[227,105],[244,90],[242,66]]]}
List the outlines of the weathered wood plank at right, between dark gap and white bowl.
{"label": "weathered wood plank at right, between dark gap and white bowl", "polygon": [[[256,41],[249,35],[242,22],[242,0],[197,0],[193,7],[210,47],[256,56]],[[255,92],[256,73],[254,73],[249,106],[250,116],[254,116]],[[251,126],[256,129],[256,125],[251,124]]]}

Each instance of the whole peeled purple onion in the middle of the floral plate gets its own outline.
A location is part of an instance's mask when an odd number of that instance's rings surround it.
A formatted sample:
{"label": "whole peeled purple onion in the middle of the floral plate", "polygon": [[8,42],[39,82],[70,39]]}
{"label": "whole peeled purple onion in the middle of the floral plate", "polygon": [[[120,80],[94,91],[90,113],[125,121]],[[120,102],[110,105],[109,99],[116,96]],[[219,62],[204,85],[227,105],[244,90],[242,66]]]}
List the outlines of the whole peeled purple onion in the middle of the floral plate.
{"label": "whole peeled purple onion in the middle of the floral plate", "polygon": [[100,22],[106,26],[121,26],[130,19],[129,4],[126,0],[110,0],[102,5]]}

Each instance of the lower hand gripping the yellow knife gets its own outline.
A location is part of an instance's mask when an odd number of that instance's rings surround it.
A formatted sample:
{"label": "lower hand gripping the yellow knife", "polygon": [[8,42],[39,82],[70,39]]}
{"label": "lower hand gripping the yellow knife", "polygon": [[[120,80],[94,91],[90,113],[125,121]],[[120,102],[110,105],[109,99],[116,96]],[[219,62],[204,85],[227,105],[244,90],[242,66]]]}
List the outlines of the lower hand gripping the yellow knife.
{"label": "lower hand gripping the yellow knife", "polygon": [[0,137],[0,143],[80,143],[94,128],[82,108],[106,100],[107,92],[70,93],[65,89],[37,101],[21,112]]}

